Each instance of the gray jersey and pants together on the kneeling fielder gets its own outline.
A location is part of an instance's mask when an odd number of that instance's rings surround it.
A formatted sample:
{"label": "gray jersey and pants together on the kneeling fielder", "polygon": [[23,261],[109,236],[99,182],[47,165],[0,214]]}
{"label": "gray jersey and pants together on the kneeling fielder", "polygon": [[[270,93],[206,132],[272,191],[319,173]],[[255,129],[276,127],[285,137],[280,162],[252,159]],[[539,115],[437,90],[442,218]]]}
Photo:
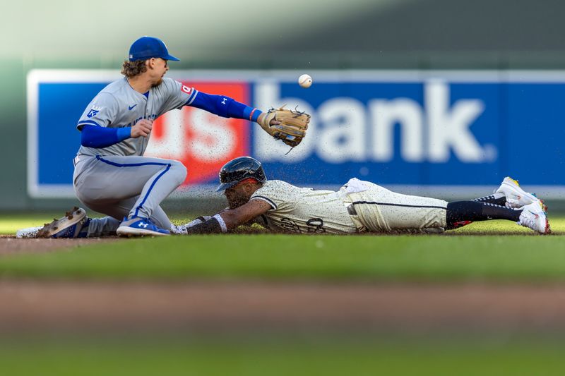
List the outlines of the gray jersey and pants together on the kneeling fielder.
{"label": "gray jersey and pants together on the kneeling fielder", "polygon": [[[198,92],[171,78],[146,95],[136,92],[126,78],[107,85],[88,104],[77,128],[134,126],[141,119],[157,119],[172,109],[191,104]],[[124,217],[150,218],[162,229],[172,224],[159,204],[186,177],[181,162],[142,157],[149,137],[128,138],[101,148],[81,146],[75,158],[73,183],[85,205],[109,217],[91,219],[89,236],[115,231]]]}

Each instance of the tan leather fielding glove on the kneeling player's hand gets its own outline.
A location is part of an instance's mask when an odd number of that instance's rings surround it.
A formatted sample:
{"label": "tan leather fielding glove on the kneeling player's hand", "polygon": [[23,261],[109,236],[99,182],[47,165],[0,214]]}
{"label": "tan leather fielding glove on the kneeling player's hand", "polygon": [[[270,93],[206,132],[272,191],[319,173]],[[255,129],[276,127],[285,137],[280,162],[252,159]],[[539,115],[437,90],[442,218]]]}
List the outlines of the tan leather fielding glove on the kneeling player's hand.
{"label": "tan leather fielding glove on the kneeling player's hand", "polygon": [[[275,121],[271,124],[271,121]],[[290,147],[297,146],[306,135],[310,115],[305,112],[292,111],[280,107],[280,109],[270,109],[259,115],[257,123],[275,138],[282,140]]]}

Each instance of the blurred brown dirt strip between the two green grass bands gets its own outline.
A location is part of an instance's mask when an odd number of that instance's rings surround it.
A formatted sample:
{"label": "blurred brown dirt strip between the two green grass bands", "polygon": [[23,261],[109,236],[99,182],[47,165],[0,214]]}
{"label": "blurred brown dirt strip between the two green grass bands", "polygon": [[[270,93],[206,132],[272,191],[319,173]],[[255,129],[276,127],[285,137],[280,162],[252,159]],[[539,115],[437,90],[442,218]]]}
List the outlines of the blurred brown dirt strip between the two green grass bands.
{"label": "blurred brown dirt strip between the two green grass bands", "polygon": [[0,281],[0,331],[565,329],[565,286]]}

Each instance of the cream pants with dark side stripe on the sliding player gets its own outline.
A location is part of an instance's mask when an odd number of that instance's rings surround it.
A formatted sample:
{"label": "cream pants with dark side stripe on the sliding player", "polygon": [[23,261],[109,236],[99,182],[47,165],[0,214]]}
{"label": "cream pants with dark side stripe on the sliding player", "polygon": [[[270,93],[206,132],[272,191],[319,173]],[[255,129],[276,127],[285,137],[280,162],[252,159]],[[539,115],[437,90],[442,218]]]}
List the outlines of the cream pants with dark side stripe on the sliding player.
{"label": "cream pants with dark side stripe on the sliding player", "polygon": [[359,231],[446,227],[447,201],[402,195],[357,178],[346,184],[345,193],[345,203]]}

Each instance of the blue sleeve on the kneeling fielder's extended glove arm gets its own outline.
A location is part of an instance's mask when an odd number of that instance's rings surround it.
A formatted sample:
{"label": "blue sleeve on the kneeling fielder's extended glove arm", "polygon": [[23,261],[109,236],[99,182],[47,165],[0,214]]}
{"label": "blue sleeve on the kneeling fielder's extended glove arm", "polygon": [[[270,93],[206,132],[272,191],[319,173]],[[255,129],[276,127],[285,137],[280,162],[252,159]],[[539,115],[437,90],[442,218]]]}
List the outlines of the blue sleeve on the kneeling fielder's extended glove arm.
{"label": "blue sleeve on the kneeling fielder's extended glove arm", "polygon": [[196,98],[189,104],[224,118],[246,119],[257,121],[261,111],[223,95],[211,95],[198,92]]}

